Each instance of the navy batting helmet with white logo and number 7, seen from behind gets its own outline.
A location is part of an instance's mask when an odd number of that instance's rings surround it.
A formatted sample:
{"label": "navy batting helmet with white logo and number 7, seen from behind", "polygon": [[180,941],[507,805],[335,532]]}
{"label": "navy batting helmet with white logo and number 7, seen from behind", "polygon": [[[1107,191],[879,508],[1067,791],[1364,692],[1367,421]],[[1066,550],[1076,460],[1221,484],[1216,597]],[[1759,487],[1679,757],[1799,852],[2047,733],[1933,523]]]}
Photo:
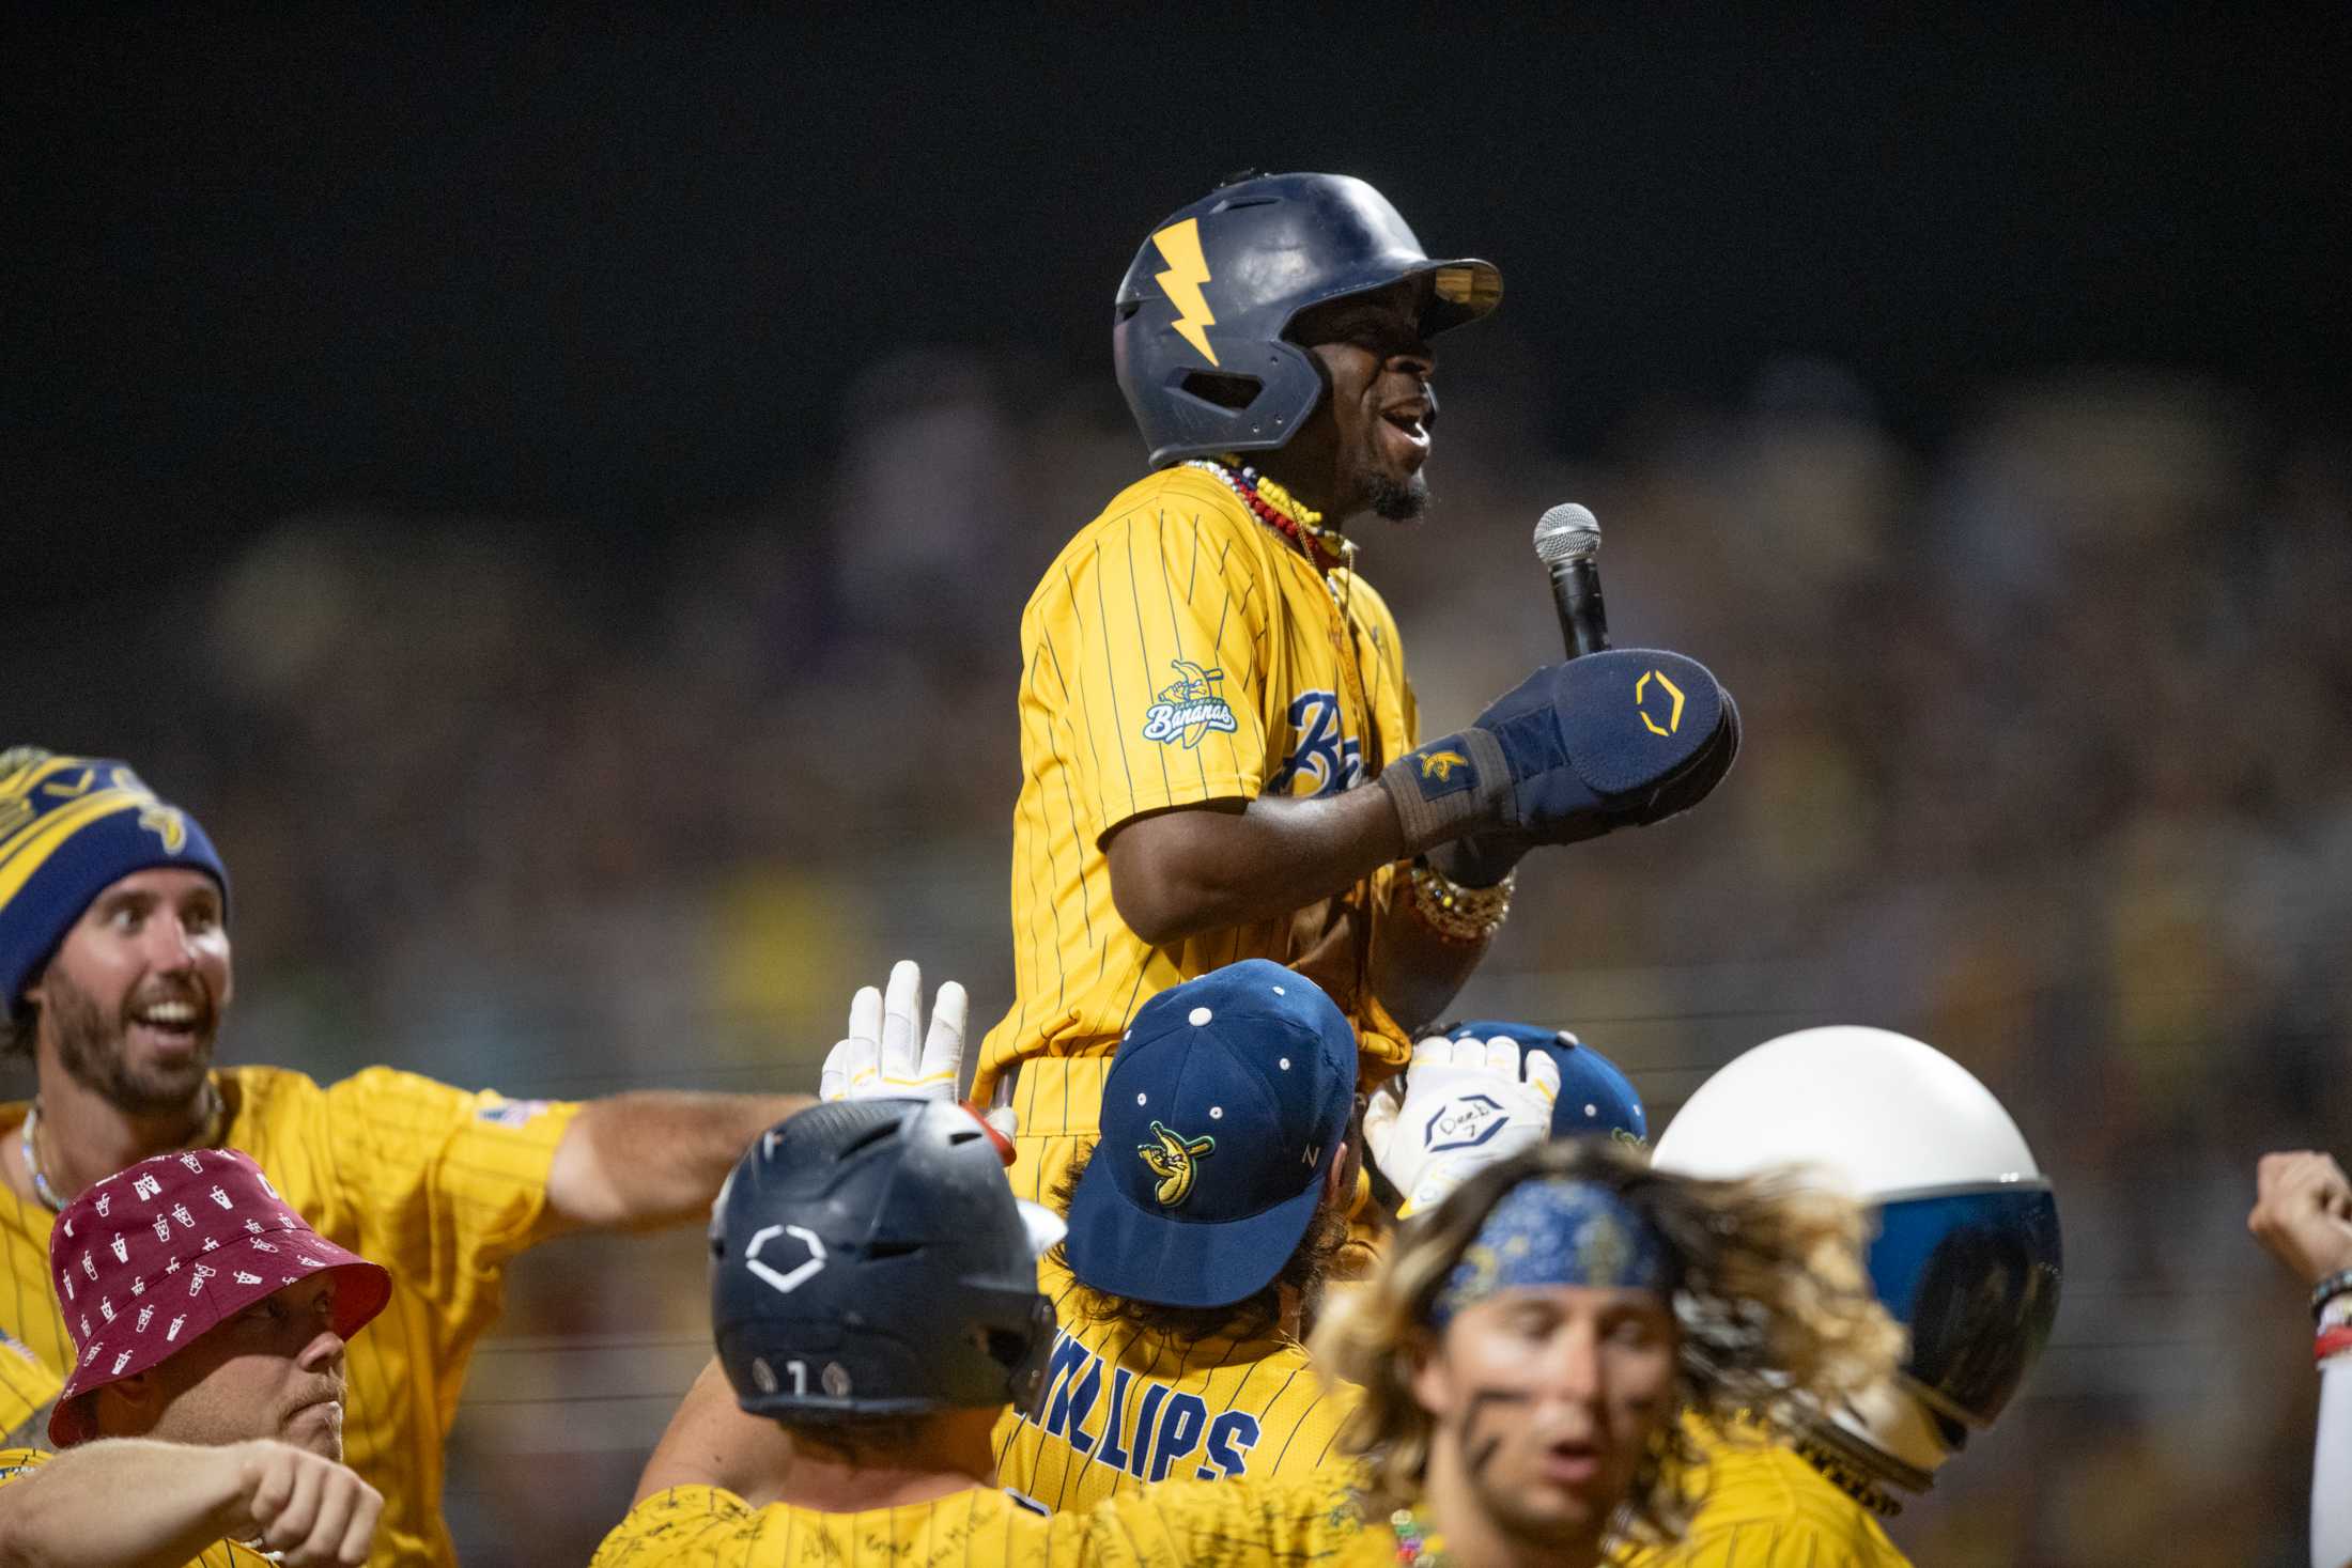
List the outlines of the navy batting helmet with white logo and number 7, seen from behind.
{"label": "navy batting helmet with white logo and number 7, seen from behind", "polygon": [[762,1133],[710,1206],[710,1328],[750,1415],[1028,1408],[1054,1347],[1002,1140],[938,1100],[840,1100]]}

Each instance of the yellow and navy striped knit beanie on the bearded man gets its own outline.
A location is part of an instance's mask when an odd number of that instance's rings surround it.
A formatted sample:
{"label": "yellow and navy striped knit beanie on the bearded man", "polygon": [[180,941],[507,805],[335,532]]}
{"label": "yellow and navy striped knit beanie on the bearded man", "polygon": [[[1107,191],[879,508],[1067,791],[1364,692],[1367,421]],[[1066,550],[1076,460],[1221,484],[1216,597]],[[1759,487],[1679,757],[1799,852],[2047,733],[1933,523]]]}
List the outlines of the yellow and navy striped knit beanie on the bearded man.
{"label": "yellow and navy striped knit beanie on the bearded man", "polygon": [[212,839],[129,764],[33,745],[0,752],[0,1006],[9,1018],[89,900],[155,865],[207,872],[228,898]]}

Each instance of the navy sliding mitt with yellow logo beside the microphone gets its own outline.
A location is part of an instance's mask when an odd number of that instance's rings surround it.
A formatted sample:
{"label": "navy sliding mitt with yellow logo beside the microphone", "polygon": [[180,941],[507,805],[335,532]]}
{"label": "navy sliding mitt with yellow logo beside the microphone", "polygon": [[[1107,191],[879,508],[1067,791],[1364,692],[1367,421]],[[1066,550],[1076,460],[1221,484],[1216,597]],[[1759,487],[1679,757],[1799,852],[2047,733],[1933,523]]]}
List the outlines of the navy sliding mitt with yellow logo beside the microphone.
{"label": "navy sliding mitt with yellow logo beside the microphone", "polygon": [[1381,769],[1378,783],[1406,853],[1496,830],[1503,846],[1510,835],[1573,844],[1689,811],[1731,771],[1738,745],[1738,708],[1703,663],[1606,649],[1536,670],[1470,729]]}

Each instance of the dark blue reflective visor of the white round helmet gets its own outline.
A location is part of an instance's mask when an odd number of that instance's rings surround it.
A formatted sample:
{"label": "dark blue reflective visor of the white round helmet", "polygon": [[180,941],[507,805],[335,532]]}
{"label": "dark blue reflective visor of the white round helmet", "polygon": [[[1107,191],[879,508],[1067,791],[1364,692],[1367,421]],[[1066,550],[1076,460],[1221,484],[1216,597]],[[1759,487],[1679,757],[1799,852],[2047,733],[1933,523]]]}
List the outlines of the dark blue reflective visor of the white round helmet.
{"label": "dark blue reflective visor of the white round helmet", "polygon": [[2058,1199],[2049,1182],[1886,1199],[1870,1284],[1910,1331],[1905,1380],[1938,1410],[1990,1427],[2058,1316]]}

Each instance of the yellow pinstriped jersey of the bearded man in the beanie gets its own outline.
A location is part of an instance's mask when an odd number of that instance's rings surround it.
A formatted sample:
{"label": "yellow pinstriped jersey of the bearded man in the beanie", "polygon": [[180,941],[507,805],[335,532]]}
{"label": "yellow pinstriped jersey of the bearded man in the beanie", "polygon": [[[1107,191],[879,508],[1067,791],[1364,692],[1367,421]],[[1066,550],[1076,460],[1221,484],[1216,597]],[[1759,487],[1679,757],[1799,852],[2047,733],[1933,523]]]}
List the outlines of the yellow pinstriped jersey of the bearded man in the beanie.
{"label": "yellow pinstriped jersey of the bearded man in the beanie", "polygon": [[[322,1237],[393,1272],[393,1300],[350,1342],[343,1458],[383,1493],[372,1563],[454,1563],[440,1516],[442,1439],[503,1265],[553,1232],[546,1206],[569,1103],[503,1100],[369,1067],[320,1088],[282,1067],[223,1067],[223,1147],[254,1157]],[[0,1107],[14,1135],[26,1107]],[[49,1284],[52,1215],[0,1190],[0,1314],[59,1375],[73,1340]],[[0,1352],[5,1356],[5,1352]]]}

